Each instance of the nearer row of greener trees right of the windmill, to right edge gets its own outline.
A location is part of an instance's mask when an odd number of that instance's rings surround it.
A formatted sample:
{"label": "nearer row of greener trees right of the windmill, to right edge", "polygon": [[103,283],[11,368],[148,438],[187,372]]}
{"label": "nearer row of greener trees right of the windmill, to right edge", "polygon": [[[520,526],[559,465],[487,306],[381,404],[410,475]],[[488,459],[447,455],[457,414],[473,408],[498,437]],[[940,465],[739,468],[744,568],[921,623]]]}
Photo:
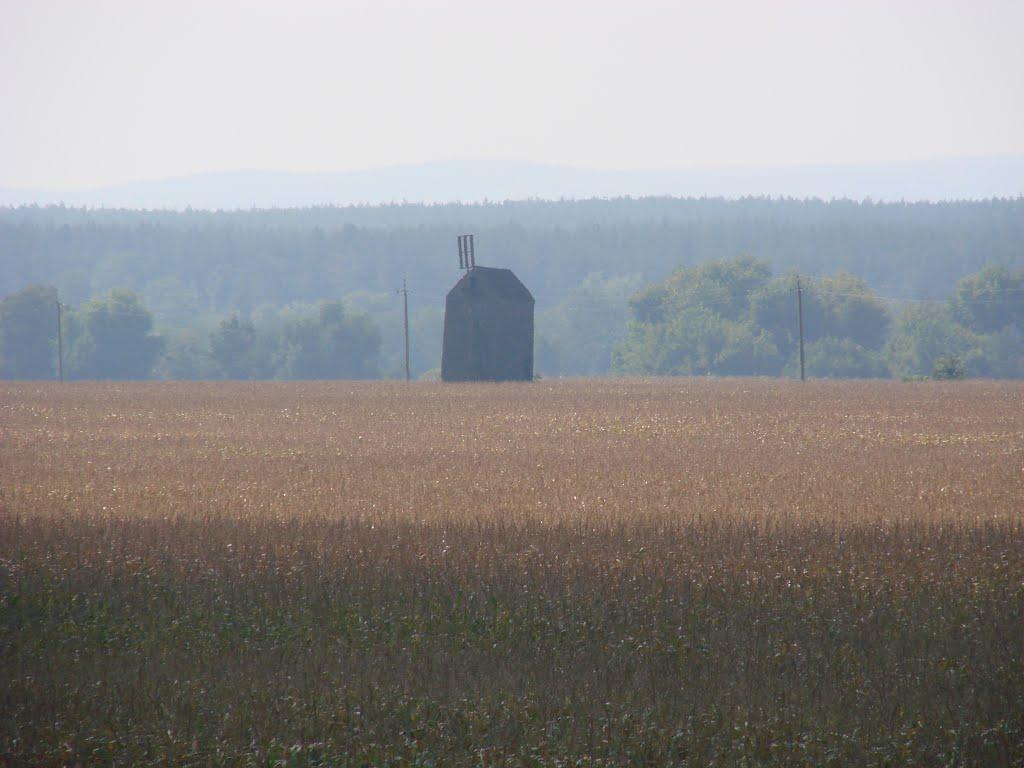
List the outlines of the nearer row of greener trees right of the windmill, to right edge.
{"label": "nearer row of greener trees right of the windmill, to right edge", "polygon": [[893,307],[847,272],[772,275],[741,256],[681,268],[635,294],[612,369],[644,375],[1024,377],[1024,270],[989,265],[947,301]]}

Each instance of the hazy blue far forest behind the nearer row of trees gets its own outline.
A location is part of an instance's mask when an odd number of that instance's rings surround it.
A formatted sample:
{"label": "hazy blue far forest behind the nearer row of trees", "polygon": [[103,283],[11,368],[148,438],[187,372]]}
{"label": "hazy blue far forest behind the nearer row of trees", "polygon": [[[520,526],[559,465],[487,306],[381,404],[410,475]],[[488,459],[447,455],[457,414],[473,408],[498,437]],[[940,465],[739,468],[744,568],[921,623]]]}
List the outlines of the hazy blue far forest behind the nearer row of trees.
{"label": "hazy blue far forest behind the nearer row of trees", "polygon": [[0,296],[48,285],[81,306],[127,288],[174,349],[205,347],[232,314],[260,330],[341,300],[349,315],[376,325],[379,373],[391,376],[403,364],[395,289],[404,275],[420,375],[440,355],[443,298],[459,274],[455,239],[467,231],[476,234],[479,263],[512,268],[532,291],[538,360],[554,376],[609,373],[632,293],[723,256],[755,254],[779,274],[856,274],[887,299],[945,298],[986,264],[1024,267],[1024,199],[623,198],[179,212],[51,206],[0,208]]}

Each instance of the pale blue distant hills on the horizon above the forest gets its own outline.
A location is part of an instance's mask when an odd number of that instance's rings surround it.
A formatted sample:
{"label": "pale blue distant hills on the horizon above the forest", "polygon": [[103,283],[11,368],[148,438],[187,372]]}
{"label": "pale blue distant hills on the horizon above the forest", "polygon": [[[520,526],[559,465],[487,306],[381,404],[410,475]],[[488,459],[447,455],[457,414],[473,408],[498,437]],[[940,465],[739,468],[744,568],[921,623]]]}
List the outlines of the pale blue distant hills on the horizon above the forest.
{"label": "pale blue distant hills on the horizon above the forest", "polygon": [[503,161],[457,161],[341,173],[236,171],[96,189],[0,188],[0,205],[135,209],[293,208],[608,197],[770,196],[877,201],[1024,196],[1024,155],[873,165],[600,171]]}

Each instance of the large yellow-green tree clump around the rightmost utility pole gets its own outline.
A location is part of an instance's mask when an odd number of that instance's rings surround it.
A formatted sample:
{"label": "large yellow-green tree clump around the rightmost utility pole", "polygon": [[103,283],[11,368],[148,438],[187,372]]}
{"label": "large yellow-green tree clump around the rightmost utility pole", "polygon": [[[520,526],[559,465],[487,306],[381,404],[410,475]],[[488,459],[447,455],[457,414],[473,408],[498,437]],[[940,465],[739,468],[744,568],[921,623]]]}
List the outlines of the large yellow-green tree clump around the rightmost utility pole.
{"label": "large yellow-green tree clump around the rightmost utility pole", "polygon": [[[812,375],[886,375],[878,350],[889,312],[871,289],[845,272],[801,283]],[[631,308],[615,355],[623,373],[776,375],[799,353],[797,275],[772,279],[749,257],[679,269]]]}

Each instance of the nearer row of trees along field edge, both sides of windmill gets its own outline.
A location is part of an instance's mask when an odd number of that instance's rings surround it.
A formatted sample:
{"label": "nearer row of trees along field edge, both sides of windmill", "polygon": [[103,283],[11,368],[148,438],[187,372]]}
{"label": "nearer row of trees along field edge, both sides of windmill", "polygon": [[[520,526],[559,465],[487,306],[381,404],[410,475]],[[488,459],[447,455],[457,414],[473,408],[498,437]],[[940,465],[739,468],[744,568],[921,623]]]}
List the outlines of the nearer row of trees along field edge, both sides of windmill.
{"label": "nearer row of trees along field edge, both sides of windmill", "polygon": [[[798,290],[807,373],[815,377],[1024,378],[1024,269],[987,265],[948,300],[880,297],[838,271],[774,274],[751,256],[679,267],[650,285],[592,273],[538,316],[543,375],[795,376]],[[0,300],[0,376],[51,379],[374,379],[381,330],[339,300],[231,313],[208,332],[156,332],[126,288],[78,307],[53,286]],[[60,337],[57,336],[59,312]],[[440,355],[441,315],[414,318],[422,371]],[[426,356],[426,362],[423,357]],[[430,372],[428,371],[428,375]]]}

